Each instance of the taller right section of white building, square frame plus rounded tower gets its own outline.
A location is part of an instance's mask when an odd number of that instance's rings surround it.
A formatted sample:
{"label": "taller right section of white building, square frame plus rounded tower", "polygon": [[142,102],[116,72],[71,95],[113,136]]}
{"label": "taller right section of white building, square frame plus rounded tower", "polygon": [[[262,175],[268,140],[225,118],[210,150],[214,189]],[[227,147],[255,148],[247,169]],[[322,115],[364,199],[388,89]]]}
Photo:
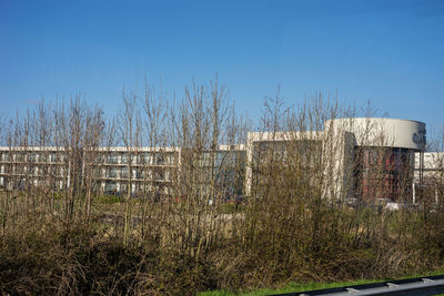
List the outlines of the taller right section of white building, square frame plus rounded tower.
{"label": "taller right section of white building, square frame plus rounded tower", "polygon": [[254,183],[258,151],[299,142],[310,143],[312,151],[303,153],[319,153],[323,174],[317,182],[324,196],[410,202],[415,154],[424,151],[425,134],[425,123],[375,118],[330,120],[323,131],[250,133],[245,193]]}

